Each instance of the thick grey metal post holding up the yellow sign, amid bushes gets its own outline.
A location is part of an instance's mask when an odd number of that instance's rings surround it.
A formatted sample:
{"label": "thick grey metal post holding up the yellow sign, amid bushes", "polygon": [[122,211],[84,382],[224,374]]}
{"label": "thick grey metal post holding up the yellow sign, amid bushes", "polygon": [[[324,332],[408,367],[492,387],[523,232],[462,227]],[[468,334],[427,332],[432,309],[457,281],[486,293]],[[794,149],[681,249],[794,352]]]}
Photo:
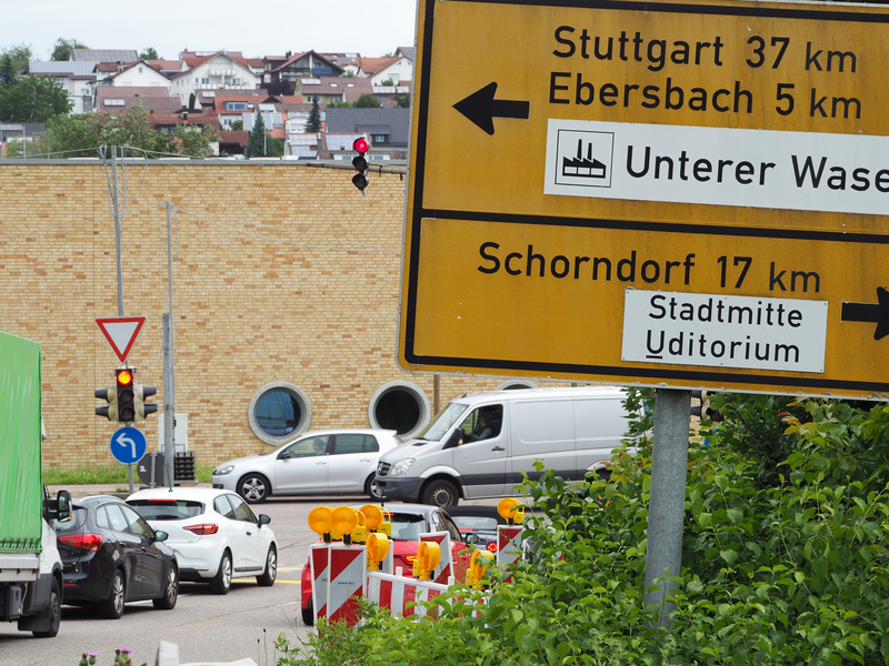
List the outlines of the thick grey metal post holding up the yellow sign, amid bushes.
{"label": "thick grey metal post holding up the yellow sign, amid bushes", "polygon": [[[662,604],[657,623],[659,627],[672,624],[669,615],[676,604],[668,601],[668,594],[678,587],[677,583],[663,578],[682,573],[690,417],[690,391],[657,390],[643,603],[646,608]],[[661,579],[656,582],[657,578]],[[649,592],[652,586],[657,588]]]}

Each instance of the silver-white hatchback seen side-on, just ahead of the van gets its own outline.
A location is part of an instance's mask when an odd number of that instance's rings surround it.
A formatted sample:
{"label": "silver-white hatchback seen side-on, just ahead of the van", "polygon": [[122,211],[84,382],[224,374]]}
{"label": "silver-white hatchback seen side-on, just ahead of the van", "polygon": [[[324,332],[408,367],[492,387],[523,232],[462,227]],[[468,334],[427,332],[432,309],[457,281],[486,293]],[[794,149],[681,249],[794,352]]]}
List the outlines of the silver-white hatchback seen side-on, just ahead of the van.
{"label": "silver-white hatchback seen side-on, just ahead of the van", "polygon": [[379,501],[377,463],[400,443],[392,430],[314,431],[269,453],[222,463],[213,470],[213,487],[250,503],[269,495],[353,493]]}

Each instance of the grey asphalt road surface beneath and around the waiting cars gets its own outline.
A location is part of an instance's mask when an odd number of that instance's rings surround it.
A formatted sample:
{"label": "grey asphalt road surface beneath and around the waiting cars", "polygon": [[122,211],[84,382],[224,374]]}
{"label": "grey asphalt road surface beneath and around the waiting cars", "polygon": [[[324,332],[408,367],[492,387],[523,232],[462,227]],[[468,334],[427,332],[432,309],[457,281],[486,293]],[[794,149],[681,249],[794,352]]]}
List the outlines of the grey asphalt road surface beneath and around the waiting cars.
{"label": "grey asphalt road surface beneath and around the waiting cars", "polygon": [[[179,646],[182,664],[228,663],[251,658],[259,666],[276,663],[274,639],[284,633],[291,646],[306,644],[300,617],[300,573],[317,535],[308,527],[316,506],[364,504],[366,496],[272,497],[253,505],[271,517],[278,541],[278,579],[259,587],[254,579],[236,582],[228,595],[209,593],[206,585],[182,583],[172,610],[156,610],[151,602],[128,604],[123,617],[101,619],[92,608],[62,607],[62,625],[54,638],[33,638],[14,623],[0,624],[0,664],[70,666],[86,652],[99,653],[97,664],[110,664],[114,649],[132,649],[133,664],[153,666],[161,640]],[[497,500],[471,504],[497,504]],[[239,581],[239,579],[236,579]]]}

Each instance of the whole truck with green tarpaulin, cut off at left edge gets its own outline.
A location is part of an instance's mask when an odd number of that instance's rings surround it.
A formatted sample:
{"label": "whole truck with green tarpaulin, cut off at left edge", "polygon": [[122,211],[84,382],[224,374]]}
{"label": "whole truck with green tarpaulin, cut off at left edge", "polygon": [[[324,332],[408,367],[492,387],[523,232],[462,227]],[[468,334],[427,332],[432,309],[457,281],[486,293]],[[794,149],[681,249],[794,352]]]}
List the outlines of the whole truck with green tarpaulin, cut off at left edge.
{"label": "whole truck with green tarpaulin, cut off at left edge", "polygon": [[71,495],[43,486],[40,345],[0,332],[0,620],[59,633],[62,563],[53,519],[71,518]]}

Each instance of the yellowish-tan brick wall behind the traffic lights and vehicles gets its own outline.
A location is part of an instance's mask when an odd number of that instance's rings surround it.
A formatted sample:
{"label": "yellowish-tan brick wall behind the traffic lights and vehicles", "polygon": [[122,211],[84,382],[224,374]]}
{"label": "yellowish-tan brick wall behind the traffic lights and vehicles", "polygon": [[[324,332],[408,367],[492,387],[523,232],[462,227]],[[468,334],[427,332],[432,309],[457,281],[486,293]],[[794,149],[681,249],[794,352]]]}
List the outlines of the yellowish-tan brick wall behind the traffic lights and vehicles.
{"label": "yellowish-tan brick wall behind the traffic lights and vehicles", "polygon": [[[42,343],[47,466],[117,464],[117,424],[93,414],[118,359],[94,323],[117,316],[111,168],[96,161],[0,163],[0,330]],[[140,424],[158,447],[161,315],[168,311],[167,209],[173,210],[177,412],[198,465],[266,451],[250,430],[258,389],[290,382],[311,427],[368,426],[393,380],[432,401],[431,375],[396,362],[406,181],[297,163],[159,163],[118,170],[124,314],[148,321],[130,353],[158,386]],[[442,403],[501,380],[442,376]]]}

